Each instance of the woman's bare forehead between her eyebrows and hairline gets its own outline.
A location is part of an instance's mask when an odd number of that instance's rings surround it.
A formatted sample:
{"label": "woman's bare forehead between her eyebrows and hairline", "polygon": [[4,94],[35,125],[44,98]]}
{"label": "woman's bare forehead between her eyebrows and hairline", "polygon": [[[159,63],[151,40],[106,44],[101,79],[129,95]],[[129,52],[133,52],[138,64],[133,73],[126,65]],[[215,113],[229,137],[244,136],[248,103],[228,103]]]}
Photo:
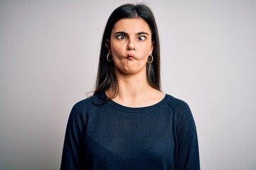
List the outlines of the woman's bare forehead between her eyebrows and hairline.
{"label": "woman's bare forehead between her eyebrows and hairline", "polygon": [[142,18],[122,18],[117,23],[114,24],[112,29],[113,32],[124,31],[127,33],[139,33],[146,32],[151,34],[151,29],[149,24],[144,21]]}

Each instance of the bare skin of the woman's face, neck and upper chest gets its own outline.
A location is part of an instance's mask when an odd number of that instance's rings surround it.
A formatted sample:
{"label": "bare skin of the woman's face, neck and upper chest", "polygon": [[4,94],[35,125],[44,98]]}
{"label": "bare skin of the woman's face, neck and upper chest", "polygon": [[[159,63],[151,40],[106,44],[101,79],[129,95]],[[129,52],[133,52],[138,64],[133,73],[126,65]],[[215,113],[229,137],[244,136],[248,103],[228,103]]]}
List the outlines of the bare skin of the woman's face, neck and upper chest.
{"label": "bare skin of the woman's face, neck and upper chest", "polygon": [[[154,42],[151,29],[142,18],[117,21],[106,46],[113,57],[119,86],[119,94],[113,101],[123,106],[144,107],[164,98],[165,94],[149,86],[146,80],[146,61],[154,49]],[[106,94],[112,94],[111,88]]]}

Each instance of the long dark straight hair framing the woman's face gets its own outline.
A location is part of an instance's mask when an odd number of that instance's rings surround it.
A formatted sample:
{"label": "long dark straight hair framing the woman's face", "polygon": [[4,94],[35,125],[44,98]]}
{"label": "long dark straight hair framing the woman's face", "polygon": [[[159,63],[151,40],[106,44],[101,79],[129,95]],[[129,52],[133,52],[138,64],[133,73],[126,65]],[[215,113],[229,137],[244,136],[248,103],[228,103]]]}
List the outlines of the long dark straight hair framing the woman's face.
{"label": "long dark straight hair framing the woman's face", "polygon": [[114,62],[107,61],[108,49],[106,47],[106,41],[110,40],[114,24],[122,18],[142,18],[149,25],[152,32],[151,40],[154,42],[154,50],[152,52],[154,61],[150,64],[146,63],[146,79],[150,86],[161,91],[159,33],[154,15],[151,9],[144,4],[124,4],[116,8],[107,21],[101,43],[97,81],[93,95],[105,92],[110,87],[114,90],[114,94],[110,98],[114,98],[118,94],[119,89],[117,77],[114,72]]}

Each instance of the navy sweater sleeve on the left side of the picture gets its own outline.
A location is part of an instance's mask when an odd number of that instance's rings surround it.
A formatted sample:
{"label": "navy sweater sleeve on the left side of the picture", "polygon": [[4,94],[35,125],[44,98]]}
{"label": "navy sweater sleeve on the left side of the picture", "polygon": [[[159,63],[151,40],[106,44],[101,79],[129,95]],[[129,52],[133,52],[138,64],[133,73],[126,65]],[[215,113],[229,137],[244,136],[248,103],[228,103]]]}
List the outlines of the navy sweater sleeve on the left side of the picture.
{"label": "navy sweater sleeve on the left side of the picture", "polygon": [[85,134],[86,113],[76,104],[68,118],[60,170],[81,169],[82,138]]}

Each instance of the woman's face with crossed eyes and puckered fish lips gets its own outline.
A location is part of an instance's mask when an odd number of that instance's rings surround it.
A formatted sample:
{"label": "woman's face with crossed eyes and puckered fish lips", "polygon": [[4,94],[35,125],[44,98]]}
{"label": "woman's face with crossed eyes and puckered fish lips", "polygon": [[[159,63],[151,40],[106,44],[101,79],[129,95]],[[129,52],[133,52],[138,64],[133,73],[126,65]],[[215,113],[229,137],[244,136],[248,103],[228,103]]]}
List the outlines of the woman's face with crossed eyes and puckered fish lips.
{"label": "woman's face with crossed eyes and puckered fish lips", "polygon": [[123,18],[114,24],[107,45],[116,73],[146,72],[146,61],[154,45],[149,25],[142,18]]}

